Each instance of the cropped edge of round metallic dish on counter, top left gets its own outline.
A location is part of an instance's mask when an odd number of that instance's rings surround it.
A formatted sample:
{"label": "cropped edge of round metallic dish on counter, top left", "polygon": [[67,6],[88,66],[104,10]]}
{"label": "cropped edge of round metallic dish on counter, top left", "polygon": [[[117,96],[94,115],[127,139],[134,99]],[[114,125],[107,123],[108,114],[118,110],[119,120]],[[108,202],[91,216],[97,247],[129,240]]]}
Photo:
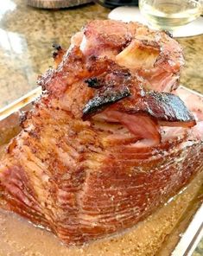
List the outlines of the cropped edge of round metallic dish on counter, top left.
{"label": "cropped edge of round metallic dish on counter, top left", "polygon": [[91,0],[26,0],[28,5],[41,9],[60,9],[91,2]]}

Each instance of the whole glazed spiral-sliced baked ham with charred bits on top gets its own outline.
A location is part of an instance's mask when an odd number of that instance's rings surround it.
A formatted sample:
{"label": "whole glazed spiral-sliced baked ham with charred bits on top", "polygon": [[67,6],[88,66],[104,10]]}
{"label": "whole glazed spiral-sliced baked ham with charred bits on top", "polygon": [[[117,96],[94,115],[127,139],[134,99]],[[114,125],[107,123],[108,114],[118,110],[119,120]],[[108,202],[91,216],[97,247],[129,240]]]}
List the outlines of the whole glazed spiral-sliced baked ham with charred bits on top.
{"label": "whole glazed spiral-sliced baked ham with charred bits on top", "polygon": [[175,90],[182,50],[164,32],[92,21],[55,48],[1,159],[1,207],[81,245],[133,227],[201,169],[203,101]]}

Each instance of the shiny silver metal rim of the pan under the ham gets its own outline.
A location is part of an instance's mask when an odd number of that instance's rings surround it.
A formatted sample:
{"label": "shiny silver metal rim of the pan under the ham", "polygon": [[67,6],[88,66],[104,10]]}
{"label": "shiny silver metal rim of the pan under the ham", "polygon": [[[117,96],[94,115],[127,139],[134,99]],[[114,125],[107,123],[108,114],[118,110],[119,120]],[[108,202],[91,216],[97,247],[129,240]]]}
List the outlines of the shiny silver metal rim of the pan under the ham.
{"label": "shiny silver metal rim of the pan under the ham", "polygon": [[[184,87],[184,86],[182,86]],[[186,88],[186,87],[184,87]],[[187,88],[186,88],[187,89]],[[196,93],[190,89],[187,89],[191,93],[197,94],[200,97],[203,97],[200,93]],[[41,95],[41,87],[35,88],[35,90],[27,93],[22,96],[22,98],[17,99],[9,106],[3,107],[0,110],[0,129],[4,127],[4,131],[6,132],[8,124],[16,125],[18,124],[19,113],[31,109],[32,102],[37,99]],[[1,130],[3,131],[3,130]],[[3,135],[0,135],[0,138]],[[195,209],[192,218],[187,223],[187,227],[184,228],[185,231],[179,234],[179,241],[176,243],[176,246],[173,248],[173,252],[170,253],[173,256],[189,256],[192,255],[194,249],[200,242],[200,239],[203,237],[203,204],[200,203],[198,208]],[[161,253],[162,255],[162,253]]]}

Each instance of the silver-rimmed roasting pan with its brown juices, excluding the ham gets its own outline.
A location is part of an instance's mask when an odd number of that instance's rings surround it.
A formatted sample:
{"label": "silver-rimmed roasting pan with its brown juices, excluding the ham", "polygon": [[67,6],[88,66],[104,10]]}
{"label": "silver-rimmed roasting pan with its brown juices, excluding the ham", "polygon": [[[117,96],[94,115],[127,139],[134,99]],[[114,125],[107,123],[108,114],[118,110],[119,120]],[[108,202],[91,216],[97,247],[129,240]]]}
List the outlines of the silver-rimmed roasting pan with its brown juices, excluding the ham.
{"label": "silver-rimmed roasting pan with its brown juices, excluding the ham", "polygon": [[[40,94],[41,88],[37,87],[0,110],[0,154],[21,130],[20,112],[31,109],[31,102]],[[199,172],[178,195],[136,227],[79,248],[66,247],[54,234],[0,210],[0,256],[192,255],[203,237],[202,182],[203,173]]]}

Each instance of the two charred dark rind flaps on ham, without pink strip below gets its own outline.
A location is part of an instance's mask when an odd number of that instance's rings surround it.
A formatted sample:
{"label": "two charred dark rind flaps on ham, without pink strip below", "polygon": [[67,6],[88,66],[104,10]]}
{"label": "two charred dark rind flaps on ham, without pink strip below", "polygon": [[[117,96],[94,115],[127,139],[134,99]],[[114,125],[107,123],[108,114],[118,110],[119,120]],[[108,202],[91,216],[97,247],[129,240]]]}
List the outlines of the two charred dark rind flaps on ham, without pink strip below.
{"label": "two charred dark rind flaps on ham, without pink strip below", "polygon": [[[111,63],[105,73],[85,81],[96,90],[83,109],[83,118],[112,105],[116,111],[147,114],[155,118],[159,125],[192,127],[196,124],[193,114],[178,96],[146,90],[146,86],[130,75],[128,69],[117,67],[116,63]],[[130,98],[124,99],[130,95]]]}

